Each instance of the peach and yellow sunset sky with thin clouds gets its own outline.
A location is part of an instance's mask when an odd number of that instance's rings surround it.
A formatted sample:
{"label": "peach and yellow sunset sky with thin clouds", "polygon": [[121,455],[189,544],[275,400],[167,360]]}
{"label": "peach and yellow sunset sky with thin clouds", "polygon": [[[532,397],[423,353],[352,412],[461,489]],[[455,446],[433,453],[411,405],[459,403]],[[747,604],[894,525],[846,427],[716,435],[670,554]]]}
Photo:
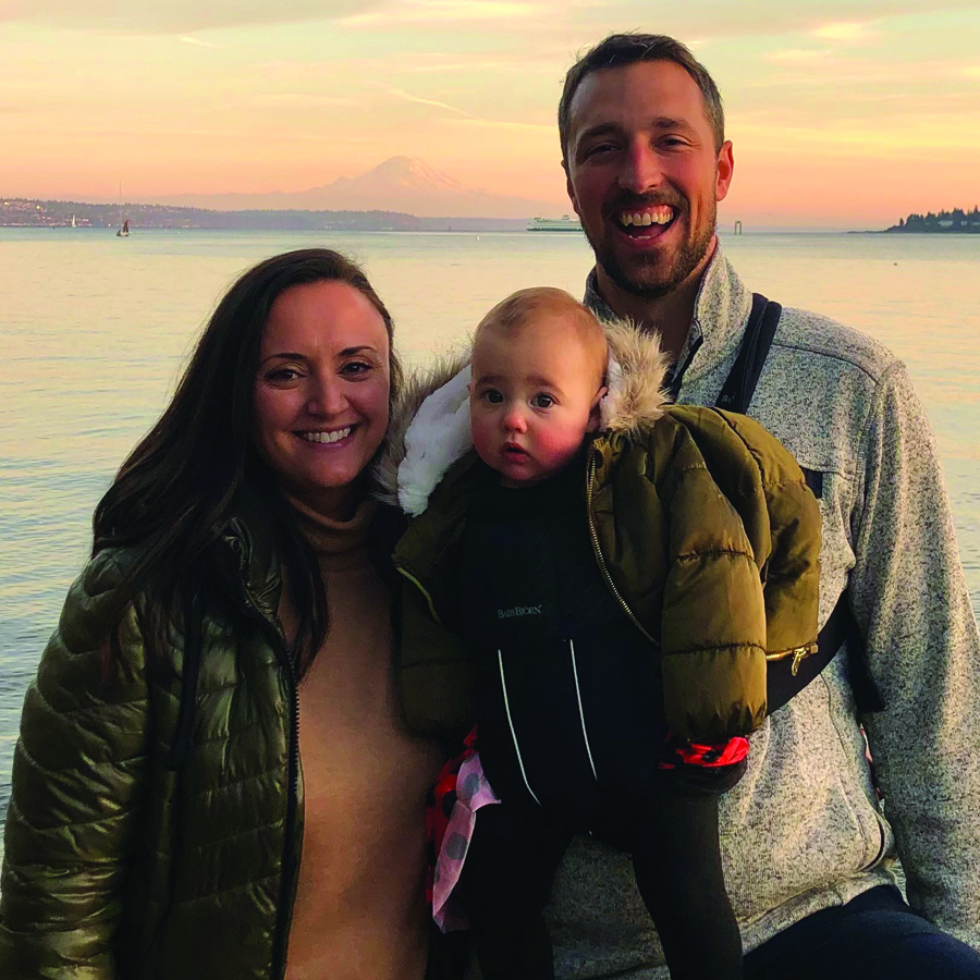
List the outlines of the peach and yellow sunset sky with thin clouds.
{"label": "peach and yellow sunset sky with thin clouds", "polygon": [[633,28],[719,83],[722,220],[980,203],[976,0],[0,0],[0,194],[302,191],[404,154],[561,211],[564,72]]}

